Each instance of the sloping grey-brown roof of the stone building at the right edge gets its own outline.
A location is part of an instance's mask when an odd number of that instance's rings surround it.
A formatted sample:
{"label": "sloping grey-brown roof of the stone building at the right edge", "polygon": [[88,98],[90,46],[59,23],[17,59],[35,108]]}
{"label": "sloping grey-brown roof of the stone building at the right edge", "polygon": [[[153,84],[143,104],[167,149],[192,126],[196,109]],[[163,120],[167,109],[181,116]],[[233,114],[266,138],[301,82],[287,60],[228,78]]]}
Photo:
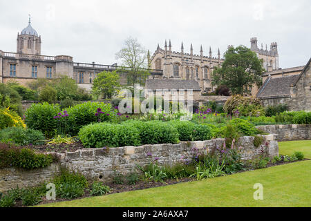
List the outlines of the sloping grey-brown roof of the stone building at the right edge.
{"label": "sloping grey-brown roof of the stone building at the right edge", "polygon": [[285,77],[268,77],[259,89],[257,97],[286,97],[290,96],[290,86],[295,84],[299,75]]}

